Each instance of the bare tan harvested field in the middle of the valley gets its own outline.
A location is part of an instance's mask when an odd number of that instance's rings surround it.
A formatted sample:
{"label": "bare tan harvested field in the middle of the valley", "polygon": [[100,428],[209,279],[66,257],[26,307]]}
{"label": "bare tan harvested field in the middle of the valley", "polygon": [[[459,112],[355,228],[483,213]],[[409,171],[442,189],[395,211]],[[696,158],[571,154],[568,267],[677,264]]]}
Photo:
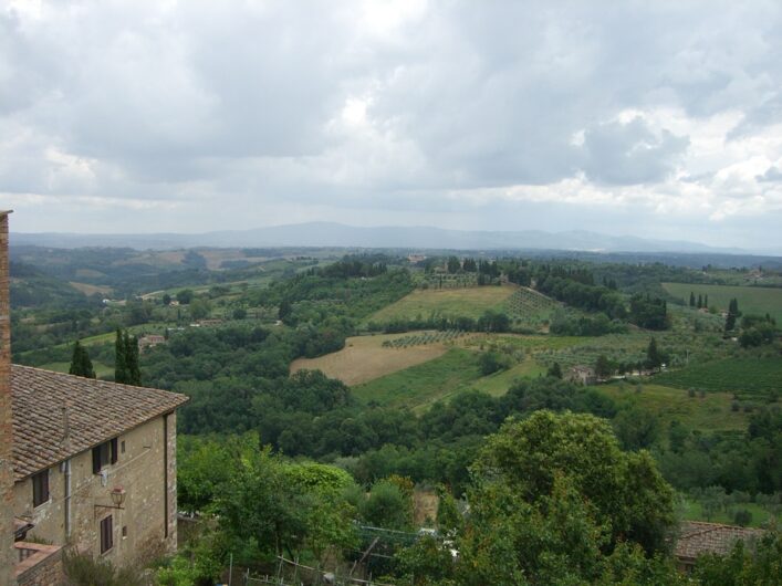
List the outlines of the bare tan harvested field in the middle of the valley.
{"label": "bare tan harvested field in the middle of the valley", "polygon": [[359,385],[385,375],[416,366],[446,353],[444,344],[426,344],[402,348],[383,347],[386,341],[402,337],[400,334],[355,336],[345,342],[340,352],[317,358],[298,358],[291,364],[291,373],[306,369],[322,370],[331,378],[346,385]]}

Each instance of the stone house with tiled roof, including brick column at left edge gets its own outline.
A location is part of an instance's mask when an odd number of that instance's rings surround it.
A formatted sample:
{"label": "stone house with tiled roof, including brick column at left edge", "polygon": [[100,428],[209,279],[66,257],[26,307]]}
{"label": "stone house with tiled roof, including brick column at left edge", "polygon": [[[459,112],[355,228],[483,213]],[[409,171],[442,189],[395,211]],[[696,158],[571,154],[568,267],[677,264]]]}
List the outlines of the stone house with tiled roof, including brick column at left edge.
{"label": "stone house with tiled roof, including brick column at left edge", "polygon": [[2,212],[0,586],[62,584],[64,550],[117,566],[174,552],[187,397],[11,365],[8,284]]}

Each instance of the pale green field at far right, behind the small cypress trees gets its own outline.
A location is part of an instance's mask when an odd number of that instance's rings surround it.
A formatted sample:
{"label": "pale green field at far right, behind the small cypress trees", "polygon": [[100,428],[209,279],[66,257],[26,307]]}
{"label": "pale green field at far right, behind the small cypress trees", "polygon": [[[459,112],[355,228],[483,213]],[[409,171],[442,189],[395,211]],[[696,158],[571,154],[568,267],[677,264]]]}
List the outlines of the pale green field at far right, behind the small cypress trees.
{"label": "pale green field at far right, behind the small cypress trees", "polygon": [[737,299],[739,311],[747,314],[770,314],[782,325],[782,287],[733,286],[733,285],[699,285],[694,283],[663,283],[665,290],[689,303],[690,292],[708,295],[709,305],[720,311],[728,311],[730,300]]}

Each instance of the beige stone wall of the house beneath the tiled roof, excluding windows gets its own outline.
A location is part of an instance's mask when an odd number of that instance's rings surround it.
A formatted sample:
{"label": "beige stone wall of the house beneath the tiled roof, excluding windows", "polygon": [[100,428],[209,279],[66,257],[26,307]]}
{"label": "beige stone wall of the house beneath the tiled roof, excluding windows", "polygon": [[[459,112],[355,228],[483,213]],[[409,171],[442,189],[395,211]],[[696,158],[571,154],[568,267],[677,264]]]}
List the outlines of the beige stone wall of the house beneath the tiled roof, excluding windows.
{"label": "beige stone wall of the house beneath the tiled roof, excluding windows", "polygon": [[[175,427],[171,414],[118,436],[117,462],[104,467],[101,474],[93,474],[91,450],[71,458],[70,499],[66,498],[69,478],[64,465],[49,469],[50,500],[40,506],[32,506],[31,478],[17,482],[15,514],[35,525],[29,535],[56,545],[72,545],[117,566],[140,565],[175,552]],[[123,509],[101,506],[113,505],[111,491],[115,486],[125,489]],[[108,515],[112,516],[114,546],[101,554],[100,526]]]}

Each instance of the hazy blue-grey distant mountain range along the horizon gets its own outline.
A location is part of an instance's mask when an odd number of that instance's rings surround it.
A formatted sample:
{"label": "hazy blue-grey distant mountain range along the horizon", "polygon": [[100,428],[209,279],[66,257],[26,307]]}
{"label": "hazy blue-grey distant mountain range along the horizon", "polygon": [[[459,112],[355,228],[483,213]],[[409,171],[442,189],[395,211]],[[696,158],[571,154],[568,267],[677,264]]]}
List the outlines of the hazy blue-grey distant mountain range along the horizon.
{"label": "hazy blue-grey distant mountain range along the horizon", "polygon": [[[593,252],[687,252],[748,254],[751,251],[716,248],[697,242],[606,236],[582,230],[466,231],[428,227],[361,228],[334,222],[273,226],[201,234],[74,234],[11,233],[11,245],[53,248],[128,247],[176,249],[194,247],[330,247],[437,250],[573,250]],[[769,254],[769,252],[755,252]]]}

